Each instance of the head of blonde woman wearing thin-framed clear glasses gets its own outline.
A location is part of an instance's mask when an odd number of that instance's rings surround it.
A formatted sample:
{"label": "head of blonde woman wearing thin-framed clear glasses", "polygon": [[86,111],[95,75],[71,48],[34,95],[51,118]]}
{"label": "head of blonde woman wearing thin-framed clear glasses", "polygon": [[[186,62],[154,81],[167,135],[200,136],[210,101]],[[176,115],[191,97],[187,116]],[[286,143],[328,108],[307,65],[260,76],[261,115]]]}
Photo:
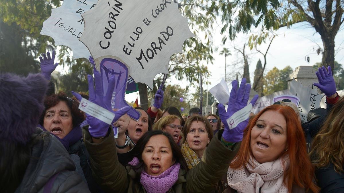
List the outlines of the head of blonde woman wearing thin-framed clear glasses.
{"label": "head of blonde woman wearing thin-framed clear glasses", "polygon": [[181,135],[182,120],[176,115],[168,115],[159,119],[157,123],[153,125],[153,130],[162,130],[169,133],[176,144],[179,143],[179,137]]}

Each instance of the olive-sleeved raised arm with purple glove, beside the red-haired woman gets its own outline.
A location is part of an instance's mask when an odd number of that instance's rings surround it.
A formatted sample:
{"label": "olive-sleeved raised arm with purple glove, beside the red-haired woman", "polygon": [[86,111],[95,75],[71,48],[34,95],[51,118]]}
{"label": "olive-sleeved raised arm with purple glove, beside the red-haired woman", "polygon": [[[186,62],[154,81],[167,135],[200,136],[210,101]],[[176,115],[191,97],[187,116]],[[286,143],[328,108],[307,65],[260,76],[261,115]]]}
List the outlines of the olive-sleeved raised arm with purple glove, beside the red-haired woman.
{"label": "olive-sleeved raised arm with purple glove, beside the red-haired woman", "polygon": [[[246,85],[245,78],[241,81],[239,89],[236,80],[232,82],[232,85],[227,112],[222,104],[218,105],[219,115],[225,129],[216,133],[205,150],[201,162],[187,172],[187,192],[200,192],[200,190],[201,192],[210,192],[214,189],[217,181],[227,172],[230,162],[239,149],[248,118],[232,129],[229,129],[227,119],[247,105],[251,86],[250,84]],[[251,104],[255,104],[257,99],[258,95],[251,100]]]}

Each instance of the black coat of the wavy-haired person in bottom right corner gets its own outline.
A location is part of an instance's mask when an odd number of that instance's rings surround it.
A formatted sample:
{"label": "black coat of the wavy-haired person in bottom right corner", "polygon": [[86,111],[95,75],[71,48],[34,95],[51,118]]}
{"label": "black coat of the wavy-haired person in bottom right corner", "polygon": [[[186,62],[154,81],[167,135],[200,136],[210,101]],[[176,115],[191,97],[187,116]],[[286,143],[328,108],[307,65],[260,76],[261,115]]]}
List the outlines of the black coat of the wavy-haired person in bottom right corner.
{"label": "black coat of the wavy-haired person in bottom right corner", "polygon": [[333,167],[333,163],[330,163],[327,168],[315,170],[315,176],[322,193],[344,192],[344,174],[335,172]]}

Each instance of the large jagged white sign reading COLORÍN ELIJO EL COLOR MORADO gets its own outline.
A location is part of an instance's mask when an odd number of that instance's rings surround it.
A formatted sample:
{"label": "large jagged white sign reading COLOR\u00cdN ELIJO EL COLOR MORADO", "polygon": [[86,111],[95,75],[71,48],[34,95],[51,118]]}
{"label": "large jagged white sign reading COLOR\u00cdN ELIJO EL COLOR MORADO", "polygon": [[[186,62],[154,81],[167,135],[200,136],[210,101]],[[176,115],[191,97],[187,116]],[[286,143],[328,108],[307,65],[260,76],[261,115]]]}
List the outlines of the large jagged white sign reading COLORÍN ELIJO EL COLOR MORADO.
{"label": "large jagged white sign reading COLOR\u00cdN ELIJO EL COLOR MORADO", "polygon": [[170,57],[194,37],[178,4],[171,0],[109,0],[82,14],[80,38],[96,63],[115,58],[136,82],[150,88],[158,73],[168,73]]}

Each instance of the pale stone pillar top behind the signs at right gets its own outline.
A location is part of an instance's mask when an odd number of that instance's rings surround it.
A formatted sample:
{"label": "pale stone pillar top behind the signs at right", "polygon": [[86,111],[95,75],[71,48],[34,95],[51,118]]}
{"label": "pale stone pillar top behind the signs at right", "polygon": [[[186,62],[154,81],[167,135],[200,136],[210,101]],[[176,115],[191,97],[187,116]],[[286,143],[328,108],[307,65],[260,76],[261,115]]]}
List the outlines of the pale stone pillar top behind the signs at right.
{"label": "pale stone pillar top behind the signs at right", "polygon": [[293,78],[295,78],[297,82],[301,81],[303,86],[310,85],[311,88],[314,88],[313,83],[318,82],[315,71],[316,69],[314,69],[312,66],[296,67],[295,70],[289,75],[289,78],[287,78],[288,90],[290,89],[290,81],[292,81]]}

